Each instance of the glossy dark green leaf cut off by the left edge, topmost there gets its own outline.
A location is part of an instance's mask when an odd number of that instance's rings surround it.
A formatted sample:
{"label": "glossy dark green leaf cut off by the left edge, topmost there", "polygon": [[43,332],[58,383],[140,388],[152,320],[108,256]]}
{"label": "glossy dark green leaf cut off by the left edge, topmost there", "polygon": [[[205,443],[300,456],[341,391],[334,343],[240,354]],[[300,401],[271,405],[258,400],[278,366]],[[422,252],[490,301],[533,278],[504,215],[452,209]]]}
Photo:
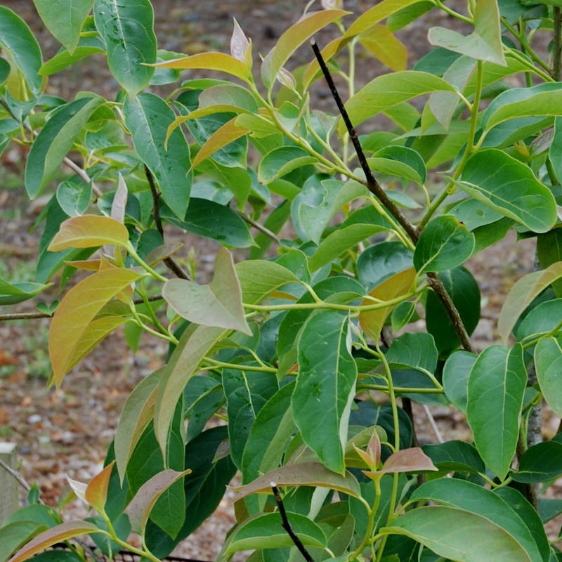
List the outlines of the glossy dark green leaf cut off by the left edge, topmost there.
{"label": "glossy dark green leaf cut off by the left edge, topmost there", "polygon": [[0,6],[0,45],[23,74],[32,95],[39,96],[43,86],[41,48],[25,21],[5,6]]}

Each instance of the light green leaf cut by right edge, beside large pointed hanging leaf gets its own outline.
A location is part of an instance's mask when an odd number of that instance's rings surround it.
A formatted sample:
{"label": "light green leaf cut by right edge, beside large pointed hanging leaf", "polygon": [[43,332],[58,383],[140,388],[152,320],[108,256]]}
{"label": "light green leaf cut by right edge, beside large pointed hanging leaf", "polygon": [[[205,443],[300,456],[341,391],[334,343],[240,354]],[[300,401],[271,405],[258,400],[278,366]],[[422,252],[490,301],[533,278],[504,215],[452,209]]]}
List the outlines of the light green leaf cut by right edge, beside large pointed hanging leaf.
{"label": "light green leaf cut by right edge, beside large pointed hanging leaf", "polygon": [[[537,307],[539,308],[539,307]],[[560,317],[550,317],[553,321]],[[554,337],[541,338],[535,347],[535,369],[544,400],[557,416],[562,416],[562,348]]]}

